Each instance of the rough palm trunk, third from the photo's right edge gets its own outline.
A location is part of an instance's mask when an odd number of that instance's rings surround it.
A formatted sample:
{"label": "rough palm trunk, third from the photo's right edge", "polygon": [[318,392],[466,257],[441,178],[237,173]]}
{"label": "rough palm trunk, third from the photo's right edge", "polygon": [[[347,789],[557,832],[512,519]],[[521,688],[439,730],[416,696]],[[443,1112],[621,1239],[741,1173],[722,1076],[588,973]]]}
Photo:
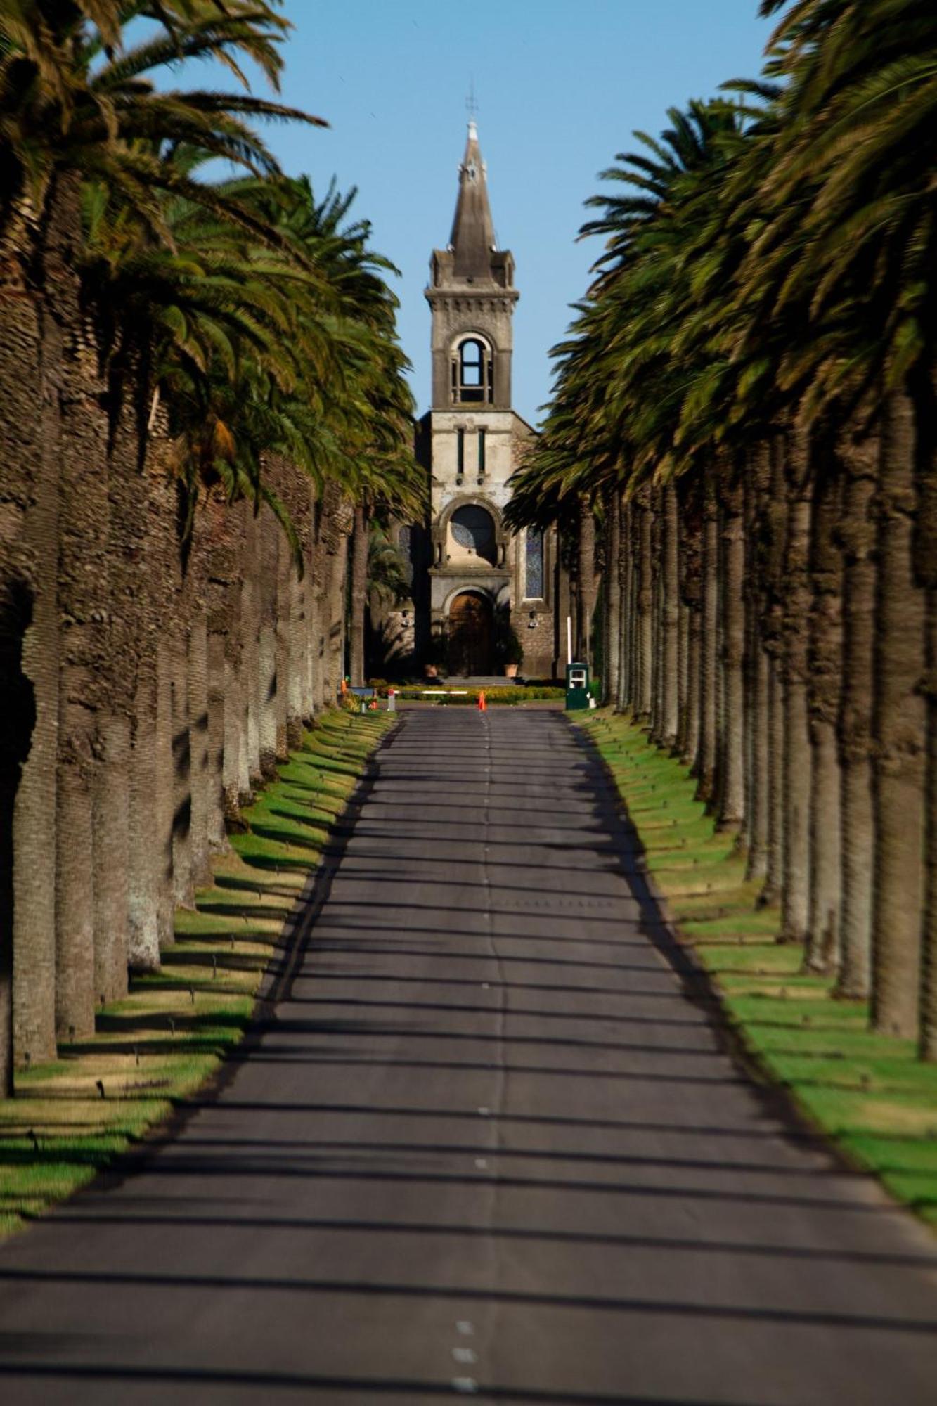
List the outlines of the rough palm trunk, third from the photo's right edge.
{"label": "rough palm trunk, third from the photo's right edge", "polygon": [[872,972],[872,696],[875,681],[875,501],[878,434],[843,434],[839,458],[846,474],[843,543],[843,686],[837,721],[840,748],[840,853],[843,910],[837,994],[864,1000]]}

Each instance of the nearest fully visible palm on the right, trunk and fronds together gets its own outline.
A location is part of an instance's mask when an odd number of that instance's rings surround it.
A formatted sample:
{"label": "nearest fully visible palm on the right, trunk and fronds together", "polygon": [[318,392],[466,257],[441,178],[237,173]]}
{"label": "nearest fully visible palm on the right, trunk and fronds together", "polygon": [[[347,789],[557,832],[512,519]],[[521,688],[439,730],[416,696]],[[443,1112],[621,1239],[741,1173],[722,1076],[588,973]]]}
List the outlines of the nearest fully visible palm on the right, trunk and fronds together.
{"label": "nearest fully visible palm on the right, trunk and fronds together", "polygon": [[[763,8],[771,13],[778,4],[768,0]],[[791,77],[789,138],[774,177],[777,204],[809,181],[791,291],[809,288],[813,321],[846,326],[850,335],[848,352],[817,357],[815,394],[841,396],[848,373],[854,404],[871,395],[882,411],[872,1004],[878,1028],[902,1035],[917,1028],[922,969],[926,720],[919,582],[926,586],[927,578],[914,576],[926,553],[912,557],[909,509],[916,484],[933,478],[937,249],[927,132],[937,112],[936,41],[933,7],[920,0],[862,6],[803,0],[777,31],[779,63]],[[924,932],[934,929],[931,910],[929,898]],[[927,969],[933,970],[931,962]]]}

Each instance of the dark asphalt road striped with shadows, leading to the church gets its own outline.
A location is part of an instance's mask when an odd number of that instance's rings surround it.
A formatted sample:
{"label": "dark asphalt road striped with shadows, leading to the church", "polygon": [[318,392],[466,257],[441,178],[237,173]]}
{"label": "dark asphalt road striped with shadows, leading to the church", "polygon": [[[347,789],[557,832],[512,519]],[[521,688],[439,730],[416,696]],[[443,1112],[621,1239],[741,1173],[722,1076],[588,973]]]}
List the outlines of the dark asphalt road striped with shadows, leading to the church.
{"label": "dark asphalt road striped with shadows, leading to the church", "polygon": [[219,1098],[0,1250],[0,1400],[933,1406],[937,1244],[678,969],[566,718],[407,714]]}

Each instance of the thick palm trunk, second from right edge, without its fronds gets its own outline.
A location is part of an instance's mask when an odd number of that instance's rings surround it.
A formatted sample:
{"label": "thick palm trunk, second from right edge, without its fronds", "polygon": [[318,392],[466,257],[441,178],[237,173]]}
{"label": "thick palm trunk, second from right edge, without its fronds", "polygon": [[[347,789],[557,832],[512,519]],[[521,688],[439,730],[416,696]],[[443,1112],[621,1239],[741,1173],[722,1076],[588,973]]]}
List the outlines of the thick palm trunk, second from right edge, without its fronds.
{"label": "thick palm trunk, second from right edge, without its fronds", "polygon": [[878,495],[872,1024],[906,1039],[919,1028],[924,896],[924,602],[913,576],[913,411],[893,394],[884,409]]}

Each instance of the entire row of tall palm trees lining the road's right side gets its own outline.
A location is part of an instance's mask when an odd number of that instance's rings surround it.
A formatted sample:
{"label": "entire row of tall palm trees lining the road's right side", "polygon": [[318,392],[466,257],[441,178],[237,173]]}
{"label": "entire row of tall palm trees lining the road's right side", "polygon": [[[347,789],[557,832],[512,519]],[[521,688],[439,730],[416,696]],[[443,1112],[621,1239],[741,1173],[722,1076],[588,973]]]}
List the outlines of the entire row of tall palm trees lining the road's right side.
{"label": "entire row of tall palm trees lining the road's right side", "polygon": [[512,516],[595,515],[609,700],[936,1059],[937,11],[774,11],[758,82],[604,173]]}

